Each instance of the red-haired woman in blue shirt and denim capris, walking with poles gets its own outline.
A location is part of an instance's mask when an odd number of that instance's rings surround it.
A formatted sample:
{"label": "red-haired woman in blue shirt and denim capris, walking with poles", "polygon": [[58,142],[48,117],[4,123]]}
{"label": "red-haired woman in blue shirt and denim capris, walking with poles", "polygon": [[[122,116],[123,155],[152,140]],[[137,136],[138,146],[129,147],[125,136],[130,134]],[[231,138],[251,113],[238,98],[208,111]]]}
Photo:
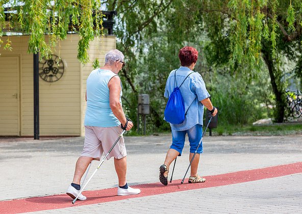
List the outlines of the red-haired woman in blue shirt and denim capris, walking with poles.
{"label": "red-haired woman in blue shirt and denim capris, walking with poles", "polygon": [[[203,135],[204,106],[210,110],[213,116],[217,114],[217,109],[212,105],[210,94],[206,89],[203,77],[199,73],[192,71],[196,65],[197,58],[198,51],[195,48],[186,46],[180,49],[179,59],[181,67],[172,70],[166,82],[164,94],[166,98],[168,98],[173,89],[177,87],[175,83],[178,83],[178,87],[183,83],[182,87],[180,87],[180,91],[184,99],[186,115],[185,120],[181,124],[170,123],[172,144],[166,154],[164,164],[160,166],[159,175],[159,179],[164,185],[168,185],[170,164],[177,156],[181,156],[182,154],[187,134],[190,142],[189,162],[191,161]],[[203,144],[200,144],[191,164],[189,183],[206,181],[205,178],[197,174],[200,153],[203,153]]]}

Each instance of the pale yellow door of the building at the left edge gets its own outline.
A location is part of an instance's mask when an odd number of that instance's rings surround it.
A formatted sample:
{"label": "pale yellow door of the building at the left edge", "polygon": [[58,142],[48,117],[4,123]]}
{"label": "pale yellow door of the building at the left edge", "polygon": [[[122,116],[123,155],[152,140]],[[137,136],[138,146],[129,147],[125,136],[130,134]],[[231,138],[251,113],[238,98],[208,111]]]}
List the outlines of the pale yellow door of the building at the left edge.
{"label": "pale yellow door of the building at the left edge", "polygon": [[19,136],[19,57],[0,56],[0,136]]}

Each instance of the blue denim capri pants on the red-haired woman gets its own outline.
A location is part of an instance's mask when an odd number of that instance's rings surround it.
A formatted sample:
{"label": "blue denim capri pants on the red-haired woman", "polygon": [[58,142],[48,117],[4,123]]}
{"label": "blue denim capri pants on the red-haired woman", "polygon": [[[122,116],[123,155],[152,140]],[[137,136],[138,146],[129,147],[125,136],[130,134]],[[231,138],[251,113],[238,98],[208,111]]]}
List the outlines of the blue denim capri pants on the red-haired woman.
{"label": "blue denim capri pants on the red-haired woman", "polygon": [[[177,150],[182,155],[183,148],[185,146],[185,138],[188,133],[188,138],[190,142],[190,153],[194,153],[199,144],[200,139],[203,136],[203,126],[200,124],[194,125],[192,128],[184,131],[172,130],[172,145],[170,149]],[[196,152],[197,154],[203,153],[203,142]]]}

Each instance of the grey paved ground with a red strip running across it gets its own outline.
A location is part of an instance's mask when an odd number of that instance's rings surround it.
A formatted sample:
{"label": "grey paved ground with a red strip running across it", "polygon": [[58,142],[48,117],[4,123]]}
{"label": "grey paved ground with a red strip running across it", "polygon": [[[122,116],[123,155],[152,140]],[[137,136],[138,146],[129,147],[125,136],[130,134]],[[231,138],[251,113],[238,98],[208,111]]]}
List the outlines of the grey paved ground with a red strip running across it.
{"label": "grey paved ground with a red strip running across it", "polygon": [[[170,135],[125,137],[128,183],[142,186],[141,195],[115,196],[117,178],[113,159],[110,159],[87,185],[85,203],[78,201],[72,205],[65,191],[72,180],[83,138],[0,139],[0,213],[28,210],[41,213],[116,213],[121,210],[123,213],[293,213],[302,209],[301,135],[207,136],[199,164],[199,174],[208,178],[206,183],[180,184],[189,164],[186,145],[183,156],[177,159],[173,182],[162,186],[158,183],[158,168],[170,141]],[[88,177],[98,163],[93,162]],[[285,171],[288,173],[280,174]],[[235,174],[229,174],[231,172]],[[234,179],[230,175],[236,175],[236,179],[244,175],[245,180],[235,179],[229,183]],[[213,176],[219,178],[217,185],[212,185]],[[32,197],[38,198],[29,199]],[[25,209],[34,206],[33,202],[36,209]],[[23,207],[23,211],[14,207],[7,209],[12,204]]]}

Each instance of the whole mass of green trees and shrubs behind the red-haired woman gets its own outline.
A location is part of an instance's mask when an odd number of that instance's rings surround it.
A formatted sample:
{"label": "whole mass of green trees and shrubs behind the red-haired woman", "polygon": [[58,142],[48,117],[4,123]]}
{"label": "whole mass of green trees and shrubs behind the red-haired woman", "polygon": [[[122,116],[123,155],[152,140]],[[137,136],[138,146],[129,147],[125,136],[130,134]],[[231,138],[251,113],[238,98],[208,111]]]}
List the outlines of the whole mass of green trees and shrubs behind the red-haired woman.
{"label": "whole mass of green trees and shrubs behind the red-haired woman", "polygon": [[[224,124],[271,117],[271,106],[282,102],[276,99],[277,93],[285,90],[279,58],[286,56],[302,65],[297,44],[301,40],[297,36],[301,35],[297,26],[301,14],[292,13],[300,11],[298,1],[149,0],[141,4],[109,0],[106,6],[117,11],[114,33],[128,63],[120,72],[128,100],[124,106],[136,118],[138,94],[149,94],[150,132],[169,130],[162,119],[165,81],[169,72],[179,67],[178,50],[184,45],[198,49],[195,70],[203,75],[213,103],[220,107],[219,121]],[[289,29],[292,15],[294,32]],[[287,17],[291,19],[287,21]],[[288,38],[291,40],[285,42]],[[264,53],[270,56],[272,74],[262,60]],[[299,68],[296,66],[297,72]]]}

